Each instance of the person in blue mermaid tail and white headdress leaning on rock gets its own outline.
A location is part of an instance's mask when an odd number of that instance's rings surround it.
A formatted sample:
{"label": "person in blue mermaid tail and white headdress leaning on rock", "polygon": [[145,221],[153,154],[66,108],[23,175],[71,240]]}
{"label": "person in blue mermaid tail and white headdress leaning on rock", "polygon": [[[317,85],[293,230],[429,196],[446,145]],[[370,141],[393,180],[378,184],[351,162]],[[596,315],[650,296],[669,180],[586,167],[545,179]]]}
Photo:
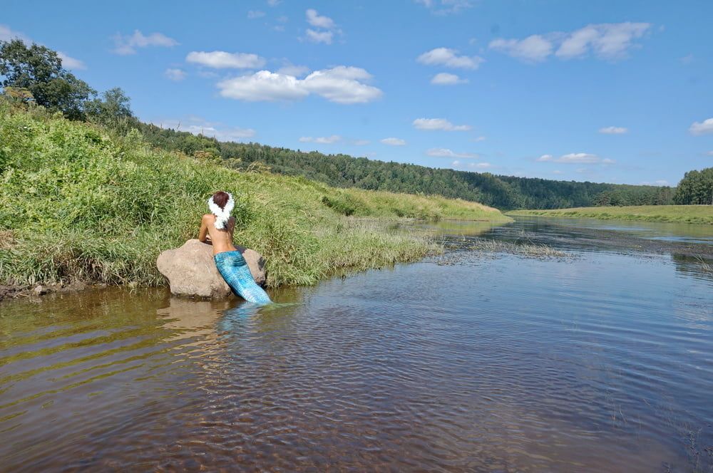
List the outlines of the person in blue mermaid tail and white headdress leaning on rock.
{"label": "person in blue mermaid tail and white headdress leaning on rock", "polygon": [[245,258],[232,244],[235,217],[230,217],[230,212],[234,206],[232,195],[222,191],[215,192],[213,197],[208,199],[211,213],[203,215],[198,239],[203,243],[210,241],[215,266],[234,293],[248,302],[270,303],[270,296],[252,279]]}

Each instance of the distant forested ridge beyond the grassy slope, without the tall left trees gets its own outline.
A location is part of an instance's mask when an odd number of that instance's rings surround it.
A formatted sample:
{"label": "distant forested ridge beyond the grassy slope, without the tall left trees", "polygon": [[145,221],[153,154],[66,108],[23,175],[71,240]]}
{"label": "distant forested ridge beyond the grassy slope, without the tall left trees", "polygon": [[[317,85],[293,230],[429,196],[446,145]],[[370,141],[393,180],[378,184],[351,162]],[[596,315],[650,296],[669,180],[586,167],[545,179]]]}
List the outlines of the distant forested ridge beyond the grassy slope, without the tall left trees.
{"label": "distant forested ridge beyond the grassy slope, without the tall left trees", "polygon": [[671,204],[670,187],[555,181],[534,177],[497,176],[489,172],[369,160],[349,155],[324,155],[257,143],[219,142],[155,125],[140,123],[145,139],[156,147],[222,159],[236,169],[255,165],[272,172],[304,176],[336,187],[438,194],[481,202],[498,209],[561,209],[594,205]]}

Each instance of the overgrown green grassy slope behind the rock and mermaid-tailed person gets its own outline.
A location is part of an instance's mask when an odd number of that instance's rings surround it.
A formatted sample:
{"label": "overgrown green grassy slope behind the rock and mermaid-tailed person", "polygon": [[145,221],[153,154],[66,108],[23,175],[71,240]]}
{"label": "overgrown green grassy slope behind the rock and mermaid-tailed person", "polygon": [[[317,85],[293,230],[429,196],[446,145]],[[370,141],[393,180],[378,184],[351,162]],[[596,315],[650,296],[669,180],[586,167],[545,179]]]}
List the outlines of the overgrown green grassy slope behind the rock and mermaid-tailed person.
{"label": "overgrown green grassy slope behind the rock and mermaid-tailed person", "polygon": [[438,249],[387,232],[394,219],[509,220],[474,202],[237,172],[154,150],[138,132],[120,137],[4,103],[0,184],[0,285],[164,284],[156,256],[195,237],[217,189],[235,196],[235,239],[265,255],[270,286],[312,284]]}

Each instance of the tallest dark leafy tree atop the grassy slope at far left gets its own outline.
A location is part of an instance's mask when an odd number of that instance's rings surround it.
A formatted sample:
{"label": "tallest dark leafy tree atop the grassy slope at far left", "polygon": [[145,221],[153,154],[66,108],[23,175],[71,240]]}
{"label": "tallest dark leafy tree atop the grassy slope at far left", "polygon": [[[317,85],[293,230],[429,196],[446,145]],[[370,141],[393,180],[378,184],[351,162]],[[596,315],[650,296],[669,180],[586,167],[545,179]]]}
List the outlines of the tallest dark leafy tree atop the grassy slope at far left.
{"label": "tallest dark leafy tree atop the grassy slope at far left", "polygon": [[85,117],[87,100],[96,94],[89,85],[62,67],[55,51],[19,39],[0,41],[0,82],[3,88],[29,90],[38,105],[67,118]]}

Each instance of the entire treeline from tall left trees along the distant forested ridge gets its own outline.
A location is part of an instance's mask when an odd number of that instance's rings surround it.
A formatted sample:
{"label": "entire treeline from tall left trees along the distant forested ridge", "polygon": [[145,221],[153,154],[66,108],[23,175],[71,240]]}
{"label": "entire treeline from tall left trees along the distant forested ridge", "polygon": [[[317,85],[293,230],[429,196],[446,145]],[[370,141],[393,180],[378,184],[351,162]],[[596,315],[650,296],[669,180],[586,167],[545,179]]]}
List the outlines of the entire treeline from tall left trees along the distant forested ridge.
{"label": "entire treeline from tall left trees along the distant forested ridge", "polygon": [[497,176],[489,172],[324,155],[257,143],[218,142],[215,138],[141,123],[119,88],[98,95],[62,67],[61,58],[45,46],[20,40],[0,41],[0,76],[4,94],[17,103],[41,105],[73,120],[98,123],[125,135],[138,130],[151,145],[175,150],[226,167],[269,167],[272,172],[304,176],[336,187],[436,194],[499,209],[557,209],[593,205],[670,204],[670,187],[555,181]]}

